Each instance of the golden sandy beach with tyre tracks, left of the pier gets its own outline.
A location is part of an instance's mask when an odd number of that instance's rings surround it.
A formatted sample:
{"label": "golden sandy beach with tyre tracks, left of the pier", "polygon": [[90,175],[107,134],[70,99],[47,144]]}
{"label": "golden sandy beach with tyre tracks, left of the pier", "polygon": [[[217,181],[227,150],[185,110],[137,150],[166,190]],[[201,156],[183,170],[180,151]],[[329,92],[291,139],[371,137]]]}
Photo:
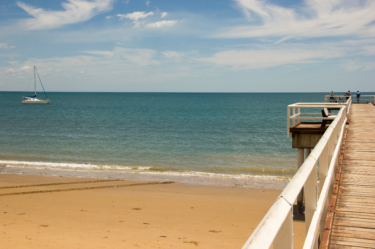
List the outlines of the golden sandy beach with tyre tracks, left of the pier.
{"label": "golden sandy beach with tyre tracks, left of the pier", "polygon": [[[1,247],[241,248],[281,193],[102,180],[0,174]],[[42,184],[57,185],[4,188]],[[293,225],[302,248],[305,223]]]}

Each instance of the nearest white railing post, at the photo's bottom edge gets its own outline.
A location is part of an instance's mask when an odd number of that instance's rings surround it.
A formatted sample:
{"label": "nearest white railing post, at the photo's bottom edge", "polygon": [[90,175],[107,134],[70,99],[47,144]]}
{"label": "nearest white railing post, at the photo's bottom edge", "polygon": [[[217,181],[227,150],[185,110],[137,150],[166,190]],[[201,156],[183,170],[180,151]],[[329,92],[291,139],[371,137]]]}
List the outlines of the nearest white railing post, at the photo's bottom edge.
{"label": "nearest white railing post, at the photo's bottom edge", "polygon": [[[292,203],[293,204],[293,203]],[[293,249],[293,206],[273,240],[274,249]]]}

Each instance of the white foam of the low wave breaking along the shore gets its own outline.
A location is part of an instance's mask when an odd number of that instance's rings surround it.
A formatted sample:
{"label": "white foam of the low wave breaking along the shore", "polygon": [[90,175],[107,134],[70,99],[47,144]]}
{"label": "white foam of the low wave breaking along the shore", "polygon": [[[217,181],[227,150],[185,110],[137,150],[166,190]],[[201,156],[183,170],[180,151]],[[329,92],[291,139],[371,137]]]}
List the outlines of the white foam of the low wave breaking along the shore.
{"label": "white foam of the low wave breaking along the shore", "polygon": [[51,169],[85,172],[110,172],[110,173],[139,173],[149,175],[169,175],[174,177],[199,177],[199,178],[222,178],[222,179],[257,179],[270,181],[288,181],[291,176],[273,175],[246,175],[246,174],[225,174],[213,172],[198,172],[192,170],[165,170],[162,168],[145,166],[121,166],[121,165],[93,165],[79,163],[52,163],[52,162],[27,162],[0,160],[0,166],[17,167],[24,169]]}

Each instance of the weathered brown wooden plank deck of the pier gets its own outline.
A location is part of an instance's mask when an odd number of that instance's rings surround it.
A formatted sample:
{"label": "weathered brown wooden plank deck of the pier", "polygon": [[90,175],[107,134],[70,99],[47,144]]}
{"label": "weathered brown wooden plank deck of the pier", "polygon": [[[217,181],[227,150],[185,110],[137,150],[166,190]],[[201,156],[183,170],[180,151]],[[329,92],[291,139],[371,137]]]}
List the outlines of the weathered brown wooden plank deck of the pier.
{"label": "weathered brown wooden plank deck of the pier", "polygon": [[328,248],[375,248],[375,106],[353,104],[347,128]]}

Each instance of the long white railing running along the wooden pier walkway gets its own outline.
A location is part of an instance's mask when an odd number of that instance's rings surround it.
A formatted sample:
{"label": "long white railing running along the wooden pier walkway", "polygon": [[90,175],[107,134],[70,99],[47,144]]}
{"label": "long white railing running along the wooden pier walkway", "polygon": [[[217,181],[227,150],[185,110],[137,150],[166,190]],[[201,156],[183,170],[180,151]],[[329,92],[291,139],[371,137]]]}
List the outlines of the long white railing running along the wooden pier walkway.
{"label": "long white railing running along the wooden pier walkway", "polygon": [[[327,108],[329,103],[299,103],[296,108]],[[308,104],[308,105],[303,105]],[[297,104],[295,104],[297,105]],[[309,107],[307,107],[309,106]],[[337,105],[336,105],[337,106]],[[335,181],[342,138],[345,132],[346,105],[340,107],[339,113],[327,128],[323,137],[306,158],[287,187],[282,191],[258,227],[246,241],[242,249],[268,249],[273,243],[274,249],[293,248],[293,203],[305,185],[305,224],[306,240],[303,249],[317,249],[319,228],[323,228],[327,216],[330,197]],[[316,115],[317,113],[315,113]],[[290,107],[288,106],[290,116]],[[301,117],[295,116],[293,119]],[[299,113],[302,115],[302,113]],[[307,113],[306,115],[314,115]],[[292,119],[292,117],[289,117]],[[322,119],[322,117],[318,118]],[[288,119],[289,122],[290,119]],[[319,161],[320,196],[317,191],[317,162]]]}

